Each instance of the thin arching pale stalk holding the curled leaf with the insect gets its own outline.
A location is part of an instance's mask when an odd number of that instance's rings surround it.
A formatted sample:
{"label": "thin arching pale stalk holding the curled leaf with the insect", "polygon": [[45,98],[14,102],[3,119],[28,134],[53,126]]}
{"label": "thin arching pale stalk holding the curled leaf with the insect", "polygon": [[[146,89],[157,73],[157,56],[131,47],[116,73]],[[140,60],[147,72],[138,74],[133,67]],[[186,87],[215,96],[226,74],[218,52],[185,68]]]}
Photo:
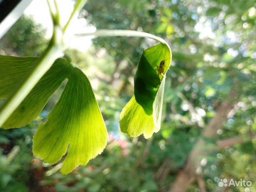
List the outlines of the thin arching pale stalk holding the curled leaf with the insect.
{"label": "thin arching pale stalk holding the curled leaf with the insect", "polygon": [[[159,41],[163,44],[166,44],[168,47],[168,43],[157,36],[154,36],[153,34],[141,32],[141,31],[132,31],[132,30],[97,30],[92,33],[80,33],[76,34],[77,37],[86,37],[86,36],[94,36],[94,38],[97,37],[113,37],[113,36],[122,36],[122,37],[147,37],[150,39],[154,39],[156,41]],[[170,47],[169,47],[170,48]]]}

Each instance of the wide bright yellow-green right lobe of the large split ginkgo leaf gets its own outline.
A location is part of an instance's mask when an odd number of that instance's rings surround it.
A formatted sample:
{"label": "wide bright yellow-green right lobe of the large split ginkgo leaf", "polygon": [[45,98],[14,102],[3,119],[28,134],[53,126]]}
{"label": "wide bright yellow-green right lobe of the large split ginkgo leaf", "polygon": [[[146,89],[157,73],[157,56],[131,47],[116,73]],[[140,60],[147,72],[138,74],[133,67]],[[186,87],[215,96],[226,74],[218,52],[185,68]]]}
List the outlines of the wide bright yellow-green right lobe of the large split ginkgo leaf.
{"label": "wide bright yellow-green right lobe of the large split ginkgo leaf", "polygon": [[87,77],[72,68],[58,103],[33,138],[33,153],[54,164],[68,154],[60,172],[68,174],[100,154],[107,144],[107,130]]}

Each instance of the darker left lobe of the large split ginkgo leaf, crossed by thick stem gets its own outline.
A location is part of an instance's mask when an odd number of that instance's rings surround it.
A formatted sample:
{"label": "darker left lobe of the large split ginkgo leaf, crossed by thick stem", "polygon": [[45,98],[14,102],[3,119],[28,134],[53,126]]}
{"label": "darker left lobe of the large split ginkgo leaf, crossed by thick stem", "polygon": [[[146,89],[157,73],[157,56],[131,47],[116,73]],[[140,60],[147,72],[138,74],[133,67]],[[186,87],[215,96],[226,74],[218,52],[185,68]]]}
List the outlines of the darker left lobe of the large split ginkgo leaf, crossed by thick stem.
{"label": "darker left lobe of the large split ginkgo leaf, crossed by thick stem", "polygon": [[[24,76],[33,68],[36,57],[0,58],[0,98],[7,98],[16,89]],[[67,77],[68,65],[64,58],[57,59],[46,74],[38,81],[30,94],[6,120],[2,128],[23,127],[33,121],[47,104],[50,96]]]}

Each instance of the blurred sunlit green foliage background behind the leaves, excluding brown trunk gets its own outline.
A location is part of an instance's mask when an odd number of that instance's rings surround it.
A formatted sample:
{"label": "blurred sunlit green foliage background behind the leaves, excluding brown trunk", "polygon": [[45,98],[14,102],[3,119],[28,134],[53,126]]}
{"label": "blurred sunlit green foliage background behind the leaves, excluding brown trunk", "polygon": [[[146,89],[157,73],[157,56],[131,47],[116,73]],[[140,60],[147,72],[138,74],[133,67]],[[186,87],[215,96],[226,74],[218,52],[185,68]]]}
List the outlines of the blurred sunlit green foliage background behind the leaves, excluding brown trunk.
{"label": "blurred sunlit green foliage background behind the leaves, excluding brown trunk", "polygon": [[[98,38],[86,52],[68,50],[91,81],[109,139],[100,156],[63,176],[60,163],[45,164],[32,155],[38,124],[58,101],[64,84],[40,116],[20,129],[0,130],[0,191],[167,191],[187,162],[202,130],[223,101],[234,101],[214,149],[204,158],[200,176],[207,191],[220,178],[244,178],[256,191],[256,1],[165,0],[89,1],[81,16],[97,29],[143,30],[161,36],[172,49],[167,73],[161,130],[149,140],[129,138],[119,130],[119,114],[133,96],[135,67],[148,39]],[[205,33],[201,33],[205,31]],[[0,53],[37,56],[47,41],[43,30],[22,16],[1,39]],[[236,94],[229,95],[231,90]],[[0,100],[1,103],[1,100]],[[251,135],[218,149],[217,140]],[[203,148],[204,146],[202,146]],[[245,191],[244,187],[231,188]],[[193,182],[187,191],[200,191]]]}

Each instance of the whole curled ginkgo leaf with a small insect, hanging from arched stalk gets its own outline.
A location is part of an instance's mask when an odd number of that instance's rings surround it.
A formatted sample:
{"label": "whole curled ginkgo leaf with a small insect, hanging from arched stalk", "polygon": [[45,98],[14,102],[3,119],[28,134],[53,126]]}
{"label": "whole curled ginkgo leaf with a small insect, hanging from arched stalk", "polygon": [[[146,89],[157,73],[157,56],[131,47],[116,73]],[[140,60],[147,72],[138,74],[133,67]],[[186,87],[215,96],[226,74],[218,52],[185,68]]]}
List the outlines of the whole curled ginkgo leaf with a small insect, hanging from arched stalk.
{"label": "whole curled ginkgo leaf with a small insect, hanging from arched stalk", "polygon": [[134,96],[120,114],[121,131],[129,136],[150,138],[161,126],[165,74],[171,50],[165,44],[145,49],[134,77]]}

